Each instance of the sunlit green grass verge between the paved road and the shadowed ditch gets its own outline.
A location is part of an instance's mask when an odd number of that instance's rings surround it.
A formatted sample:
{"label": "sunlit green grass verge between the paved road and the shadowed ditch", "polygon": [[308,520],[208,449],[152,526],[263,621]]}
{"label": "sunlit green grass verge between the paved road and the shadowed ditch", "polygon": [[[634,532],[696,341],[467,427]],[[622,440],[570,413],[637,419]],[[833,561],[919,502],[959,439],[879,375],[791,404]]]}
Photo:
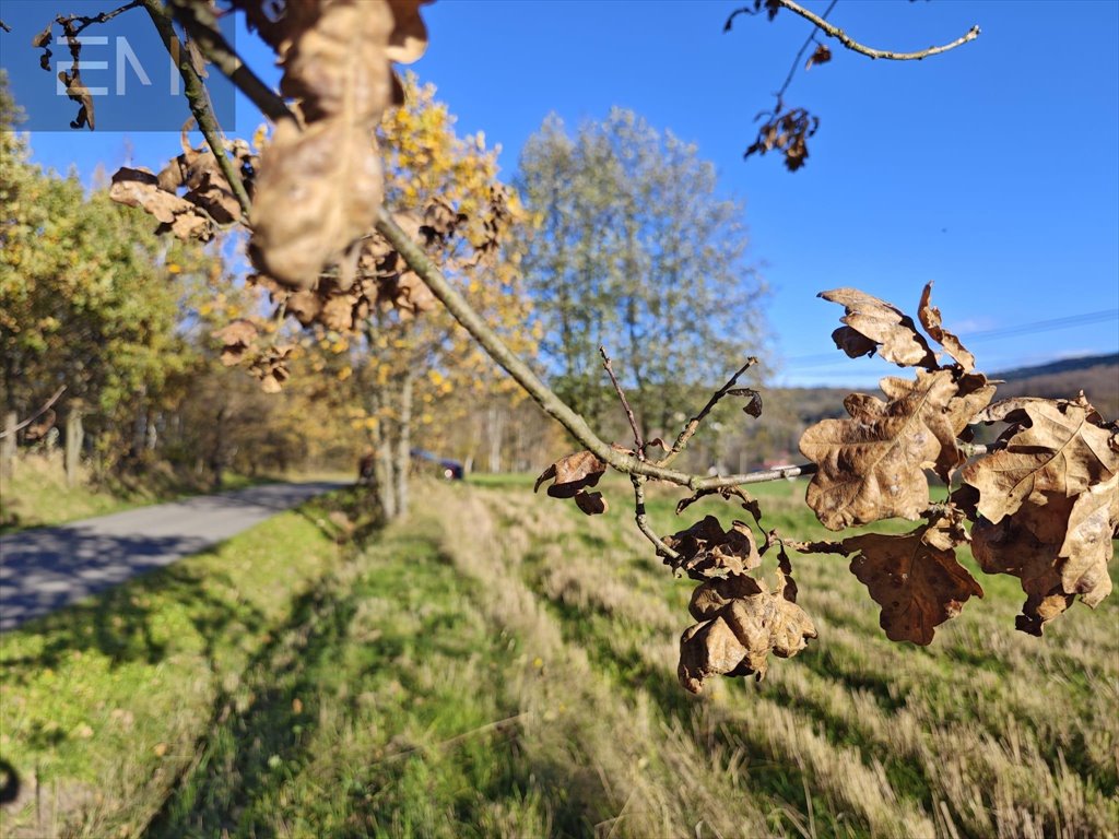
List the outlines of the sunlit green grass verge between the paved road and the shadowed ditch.
{"label": "sunlit green grass verge between the paved road and the shadowed ditch", "polygon": [[[0,637],[0,835],[143,823],[248,662],[341,562],[325,501]],[[36,831],[43,831],[36,833]]]}

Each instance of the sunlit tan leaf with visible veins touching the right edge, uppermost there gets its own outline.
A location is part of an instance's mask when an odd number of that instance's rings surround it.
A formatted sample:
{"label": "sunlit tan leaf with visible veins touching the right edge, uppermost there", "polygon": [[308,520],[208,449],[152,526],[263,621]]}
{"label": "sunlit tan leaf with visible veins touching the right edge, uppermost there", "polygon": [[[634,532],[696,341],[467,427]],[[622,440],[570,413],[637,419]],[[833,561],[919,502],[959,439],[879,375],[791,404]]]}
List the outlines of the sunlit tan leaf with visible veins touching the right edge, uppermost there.
{"label": "sunlit tan leaf with visible veins touching the right edge, uppermost there", "polygon": [[[989,413],[998,415],[998,408]],[[1119,472],[1119,452],[1093,415],[1099,416],[1087,403],[1053,399],[1017,400],[1003,413],[1015,424],[1006,447],[963,470],[965,482],[979,492],[979,513],[999,521],[1033,496],[1072,498],[1109,481]]]}

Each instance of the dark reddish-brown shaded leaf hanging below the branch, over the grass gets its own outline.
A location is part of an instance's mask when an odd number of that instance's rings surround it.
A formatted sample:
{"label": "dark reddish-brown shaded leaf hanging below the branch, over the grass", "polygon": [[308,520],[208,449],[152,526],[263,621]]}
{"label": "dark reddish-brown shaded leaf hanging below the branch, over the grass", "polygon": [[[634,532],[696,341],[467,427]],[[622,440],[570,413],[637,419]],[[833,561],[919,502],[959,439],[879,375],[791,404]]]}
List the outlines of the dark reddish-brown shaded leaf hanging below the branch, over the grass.
{"label": "dark reddish-brown shaded leaf hanging below the branch, over the grass", "polygon": [[959,519],[951,518],[909,534],[844,539],[844,550],[855,554],[850,571],[882,606],[878,622],[891,641],[929,644],[935,628],[958,615],[969,597],[982,597],[982,587],[956,560],[962,537]]}

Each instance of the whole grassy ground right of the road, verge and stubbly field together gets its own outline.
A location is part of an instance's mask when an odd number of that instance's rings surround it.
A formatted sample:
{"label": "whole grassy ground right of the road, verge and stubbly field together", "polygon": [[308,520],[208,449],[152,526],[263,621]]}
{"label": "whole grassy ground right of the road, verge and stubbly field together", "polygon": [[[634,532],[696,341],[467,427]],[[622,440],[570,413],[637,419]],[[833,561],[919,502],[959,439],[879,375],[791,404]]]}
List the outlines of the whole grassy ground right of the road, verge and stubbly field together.
{"label": "whole grassy ground right of the road, verge and stubbly field together", "polygon": [[[1115,597],[1038,640],[1016,582],[984,576],[915,648],[845,560],[805,558],[819,640],[696,698],[690,586],[624,489],[585,519],[520,480],[430,483],[361,550],[325,509],[286,513],[6,635],[0,758],[23,783],[0,835],[1117,833]],[[759,488],[767,526],[822,536],[802,492]],[[661,531],[673,503],[650,503]]]}

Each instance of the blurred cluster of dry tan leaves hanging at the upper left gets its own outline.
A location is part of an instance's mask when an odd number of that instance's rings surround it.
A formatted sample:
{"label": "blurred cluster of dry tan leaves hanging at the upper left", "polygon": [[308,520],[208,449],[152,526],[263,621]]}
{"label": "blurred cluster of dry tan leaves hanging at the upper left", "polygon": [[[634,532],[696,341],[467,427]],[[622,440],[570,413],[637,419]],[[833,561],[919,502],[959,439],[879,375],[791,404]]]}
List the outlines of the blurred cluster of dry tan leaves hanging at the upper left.
{"label": "blurred cluster of dry tan leaves hanging at the upper left", "polygon": [[[431,310],[435,299],[427,286],[374,229],[384,198],[375,132],[385,110],[403,101],[392,64],[414,62],[426,47],[425,1],[235,2],[275,50],[281,92],[293,100],[293,119],[281,120],[266,143],[258,132],[262,151],[242,140],[225,143],[251,197],[251,218],[243,217],[214,153],[191,148],[189,123],[181,154],[158,175],[122,168],[111,197],[143,208],[160,233],[181,239],[208,242],[218,230],[247,227],[257,268],[250,283],[269,293],[272,320],[290,317],[302,327],[345,333],[374,311],[410,319]],[[469,255],[459,258],[473,265],[496,253],[511,217],[508,202],[504,189],[491,190],[489,206],[478,211],[485,224],[471,228]],[[455,236],[476,220],[438,196],[394,219],[444,264]],[[242,318],[214,336],[225,364],[243,365],[274,393],[288,378],[293,346],[279,342],[267,321]]]}

